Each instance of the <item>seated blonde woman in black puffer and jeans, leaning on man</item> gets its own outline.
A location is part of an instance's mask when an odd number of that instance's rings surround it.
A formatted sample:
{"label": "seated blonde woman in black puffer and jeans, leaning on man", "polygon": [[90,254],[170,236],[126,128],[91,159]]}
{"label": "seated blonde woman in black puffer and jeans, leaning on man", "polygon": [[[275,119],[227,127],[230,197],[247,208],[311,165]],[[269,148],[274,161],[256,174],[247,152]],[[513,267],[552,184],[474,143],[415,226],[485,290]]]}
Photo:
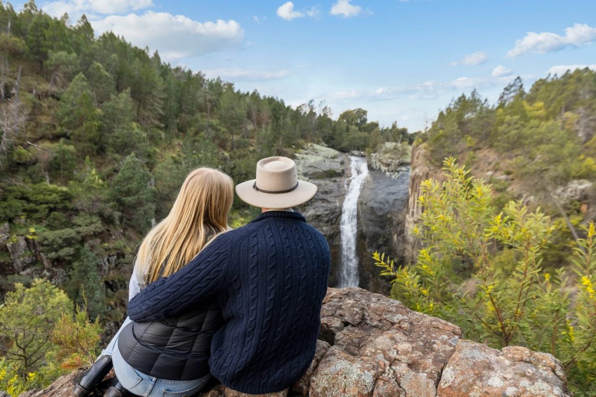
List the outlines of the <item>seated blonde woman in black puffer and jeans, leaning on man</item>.
{"label": "seated blonde woman in black puffer and jeans, leaning on man", "polygon": [[[129,300],[149,283],[172,275],[219,234],[228,230],[234,182],[223,172],[197,168],[188,174],[172,210],[139,247]],[[126,319],[95,364],[76,383],[86,397],[113,367],[116,379],[105,396],[128,392],[145,397],[193,395],[210,377],[207,361],[213,333],[223,319],[216,298],[166,320]]]}

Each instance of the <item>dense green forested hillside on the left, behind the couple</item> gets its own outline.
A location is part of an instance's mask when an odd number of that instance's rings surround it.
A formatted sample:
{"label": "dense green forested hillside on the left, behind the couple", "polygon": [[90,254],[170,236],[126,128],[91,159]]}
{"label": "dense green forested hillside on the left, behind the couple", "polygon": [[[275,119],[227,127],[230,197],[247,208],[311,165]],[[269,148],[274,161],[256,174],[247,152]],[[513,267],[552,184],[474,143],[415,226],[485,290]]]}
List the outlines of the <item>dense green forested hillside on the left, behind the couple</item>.
{"label": "dense green forested hillside on the left, behind the couple", "polygon": [[[104,335],[114,332],[135,247],[191,169],[212,166],[243,181],[258,159],[293,157],[308,142],[347,151],[409,138],[405,128],[369,122],[363,109],[331,116],[324,103],[291,108],[166,64],[125,37],[96,37],[84,16],[71,23],[33,1],[20,12],[0,4],[0,245],[7,247],[0,389],[15,394],[59,371],[61,360],[46,360],[55,354],[51,327],[33,320],[52,324],[85,303],[107,326]],[[232,225],[252,215],[238,200]],[[39,282],[23,288],[35,278],[67,296]],[[26,308],[39,305],[44,315],[31,319]],[[32,329],[36,335],[27,335]]]}

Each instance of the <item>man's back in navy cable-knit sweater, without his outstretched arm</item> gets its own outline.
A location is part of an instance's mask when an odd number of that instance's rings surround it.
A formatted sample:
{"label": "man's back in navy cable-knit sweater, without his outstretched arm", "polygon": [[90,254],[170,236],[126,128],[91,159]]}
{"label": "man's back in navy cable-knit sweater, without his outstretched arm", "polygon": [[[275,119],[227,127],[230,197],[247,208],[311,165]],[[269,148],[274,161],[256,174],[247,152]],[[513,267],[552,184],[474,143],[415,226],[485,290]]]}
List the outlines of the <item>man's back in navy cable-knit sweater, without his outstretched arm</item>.
{"label": "man's back in navy cable-knit sweater, without his outstretched arm", "polygon": [[263,213],[227,236],[234,254],[221,294],[226,324],[213,337],[210,368],[241,392],[284,389],[315,352],[327,241],[302,215],[283,211]]}

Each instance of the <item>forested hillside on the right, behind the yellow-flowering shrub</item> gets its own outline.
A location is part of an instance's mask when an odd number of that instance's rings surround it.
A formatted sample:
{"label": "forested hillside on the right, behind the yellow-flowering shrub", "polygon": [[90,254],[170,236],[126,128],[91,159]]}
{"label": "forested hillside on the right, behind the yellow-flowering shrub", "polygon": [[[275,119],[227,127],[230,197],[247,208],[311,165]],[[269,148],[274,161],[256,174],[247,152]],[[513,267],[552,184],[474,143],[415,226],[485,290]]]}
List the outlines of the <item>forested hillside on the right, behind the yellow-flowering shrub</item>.
{"label": "forested hillside on the right, behind the yellow-flowering shrub", "polygon": [[517,78],[494,105],[462,95],[421,137],[437,168],[455,156],[492,184],[498,204],[522,199],[554,218],[547,267],[560,266],[578,225],[596,216],[595,71],[548,76],[527,91]]}

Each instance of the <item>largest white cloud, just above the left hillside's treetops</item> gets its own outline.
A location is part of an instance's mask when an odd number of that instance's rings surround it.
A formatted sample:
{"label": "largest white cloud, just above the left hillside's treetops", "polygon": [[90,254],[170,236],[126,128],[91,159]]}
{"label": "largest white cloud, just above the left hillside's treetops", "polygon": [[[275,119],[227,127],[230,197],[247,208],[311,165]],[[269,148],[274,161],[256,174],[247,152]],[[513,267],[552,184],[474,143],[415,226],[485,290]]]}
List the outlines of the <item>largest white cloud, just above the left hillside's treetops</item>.
{"label": "largest white cloud, just above the left hillside's treetops", "polygon": [[168,12],[110,15],[91,25],[96,33],[113,31],[136,46],[150,46],[168,61],[237,48],[244,38],[244,30],[234,20],[198,22]]}

